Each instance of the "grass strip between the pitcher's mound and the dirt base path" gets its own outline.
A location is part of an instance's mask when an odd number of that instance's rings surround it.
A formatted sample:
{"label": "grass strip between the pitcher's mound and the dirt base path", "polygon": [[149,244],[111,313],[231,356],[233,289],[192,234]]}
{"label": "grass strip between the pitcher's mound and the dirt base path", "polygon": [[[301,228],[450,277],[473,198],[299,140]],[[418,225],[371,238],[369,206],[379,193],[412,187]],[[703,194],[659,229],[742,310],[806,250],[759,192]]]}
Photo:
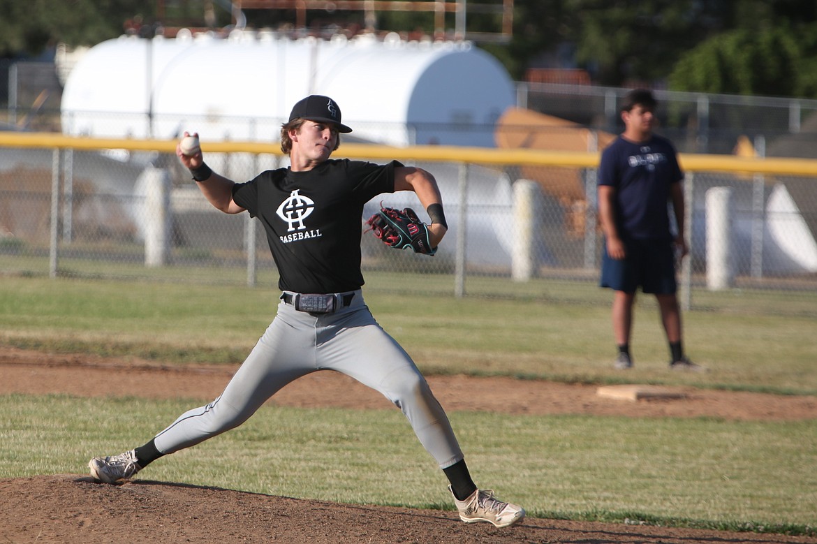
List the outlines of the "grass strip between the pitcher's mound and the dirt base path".
{"label": "grass strip between the pitcher's mound and the dirt base path", "polygon": [[[141,444],[182,400],[0,396],[0,477],[83,473]],[[529,515],[814,534],[817,421],[453,412],[478,482]],[[334,502],[451,509],[399,411],[261,408],[150,466],[148,479]]]}

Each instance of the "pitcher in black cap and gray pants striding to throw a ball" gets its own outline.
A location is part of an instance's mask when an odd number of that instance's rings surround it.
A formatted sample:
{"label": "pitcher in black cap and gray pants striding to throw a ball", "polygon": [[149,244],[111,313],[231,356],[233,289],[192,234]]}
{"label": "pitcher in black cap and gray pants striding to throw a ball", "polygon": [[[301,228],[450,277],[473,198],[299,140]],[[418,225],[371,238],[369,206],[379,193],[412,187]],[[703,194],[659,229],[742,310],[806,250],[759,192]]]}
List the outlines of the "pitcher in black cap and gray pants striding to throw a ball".
{"label": "pitcher in black cap and gray pants striding to throw a ball", "polygon": [[[346,132],[351,129],[341,123],[334,100],[307,96],[281,128],[281,149],[291,166],[261,172],[246,183],[212,172],[200,149],[188,155],[181,145],[176,148],[214,207],[231,214],[248,211],[264,225],[279,270],[281,301],[275,319],[217,399],[181,414],[139,448],[94,457],[89,462],[94,478],[106,483],[130,478],[159,457],[241,425],[291,381],[334,370],[380,391],[403,411],[448,477],[463,521],[507,527],[525,517],[520,506],[476,487],[443,408],[412,359],[377,325],[360,290],[364,204],[378,194],[413,191],[431,225],[400,214],[397,223],[386,216],[370,221],[386,243],[432,253],[446,232],[435,178],[397,161],[330,159]],[[404,232],[401,225],[407,225]]]}

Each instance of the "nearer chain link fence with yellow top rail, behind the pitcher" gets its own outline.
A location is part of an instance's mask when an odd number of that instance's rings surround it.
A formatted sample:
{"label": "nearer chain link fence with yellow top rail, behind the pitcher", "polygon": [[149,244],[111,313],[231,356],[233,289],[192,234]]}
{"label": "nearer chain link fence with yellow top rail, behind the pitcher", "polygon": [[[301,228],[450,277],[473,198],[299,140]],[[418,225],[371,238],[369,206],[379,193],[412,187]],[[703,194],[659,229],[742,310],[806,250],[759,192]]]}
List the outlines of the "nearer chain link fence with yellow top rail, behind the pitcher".
{"label": "nearer chain link fence with yellow top rail, behind the pitcher", "polygon": [[[275,288],[261,225],[212,208],[172,149],[173,141],[0,135],[0,274]],[[212,142],[205,151],[236,181],[288,164],[274,145]],[[424,167],[443,193],[450,229],[435,256],[364,233],[369,289],[609,303],[596,287],[598,154],[345,142],[337,156]],[[757,311],[817,315],[817,161],[681,162],[685,305],[742,311],[757,299]],[[413,194],[384,194],[364,216],[381,202],[418,206]]]}

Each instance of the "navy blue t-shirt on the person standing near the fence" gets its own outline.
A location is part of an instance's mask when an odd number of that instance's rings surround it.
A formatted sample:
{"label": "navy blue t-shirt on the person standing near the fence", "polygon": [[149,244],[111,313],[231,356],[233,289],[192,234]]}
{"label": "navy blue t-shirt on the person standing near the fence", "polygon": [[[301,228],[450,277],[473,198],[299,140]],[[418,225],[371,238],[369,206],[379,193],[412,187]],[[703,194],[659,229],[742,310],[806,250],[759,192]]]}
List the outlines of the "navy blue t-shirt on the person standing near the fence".
{"label": "navy blue t-shirt on the person standing near the fence", "polygon": [[671,239],[670,186],[684,178],[676,150],[662,136],[640,144],[618,136],[601,154],[599,185],[616,190],[618,234],[631,239]]}

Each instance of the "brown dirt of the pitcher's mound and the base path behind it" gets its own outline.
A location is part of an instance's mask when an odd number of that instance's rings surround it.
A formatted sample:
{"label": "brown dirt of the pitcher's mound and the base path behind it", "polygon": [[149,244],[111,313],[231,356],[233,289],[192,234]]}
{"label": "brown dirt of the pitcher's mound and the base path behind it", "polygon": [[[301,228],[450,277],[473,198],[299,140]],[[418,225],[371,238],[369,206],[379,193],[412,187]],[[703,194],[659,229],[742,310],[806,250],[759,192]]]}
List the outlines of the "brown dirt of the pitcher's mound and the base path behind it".
{"label": "brown dirt of the pitcher's mound and the base path behind it", "polygon": [[[135,360],[0,349],[0,394],[145,395],[212,399],[234,366],[168,367]],[[113,379],[115,376],[115,380]],[[679,399],[605,399],[595,386],[463,376],[428,377],[449,411],[588,413],[731,420],[817,418],[817,398],[679,388]],[[116,390],[109,384],[116,383]],[[376,392],[332,372],[284,388],[273,404],[393,409]],[[452,512],[343,505],[230,489],[136,480],[111,486],[86,475],[0,480],[0,543],[64,542],[810,542],[683,528],[528,518],[497,529]]]}

